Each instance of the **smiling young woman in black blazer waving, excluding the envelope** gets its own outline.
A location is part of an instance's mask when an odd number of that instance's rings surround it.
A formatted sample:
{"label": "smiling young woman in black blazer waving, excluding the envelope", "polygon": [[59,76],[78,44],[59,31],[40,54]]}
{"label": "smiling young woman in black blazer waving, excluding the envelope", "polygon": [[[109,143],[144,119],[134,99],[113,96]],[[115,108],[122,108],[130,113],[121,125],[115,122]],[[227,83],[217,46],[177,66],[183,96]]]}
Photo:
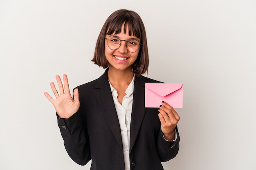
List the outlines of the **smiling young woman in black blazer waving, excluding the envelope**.
{"label": "smiling young woman in black blazer waving, excluding the envelope", "polygon": [[91,170],[163,170],[179,150],[176,111],[166,102],[145,108],[148,69],[144,24],[137,13],[118,10],[103,25],[94,64],[106,68],[98,79],[69,91],[57,75],[59,93],[45,96],[54,105],[67,153],[78,164],[92,160]]}

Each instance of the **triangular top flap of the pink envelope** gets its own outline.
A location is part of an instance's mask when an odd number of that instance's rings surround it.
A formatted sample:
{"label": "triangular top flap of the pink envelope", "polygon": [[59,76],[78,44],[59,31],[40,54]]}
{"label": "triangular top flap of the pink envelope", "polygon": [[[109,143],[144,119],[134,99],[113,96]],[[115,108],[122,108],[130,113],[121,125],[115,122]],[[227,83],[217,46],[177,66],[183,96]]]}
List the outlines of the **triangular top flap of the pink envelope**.
{"label": "triangular top flap of the pink envelope", "polygon": [[146,83],[145,87],[148,88],[148,90],[164,97],[179,90],[182,88],[182,85],[182,83]]}

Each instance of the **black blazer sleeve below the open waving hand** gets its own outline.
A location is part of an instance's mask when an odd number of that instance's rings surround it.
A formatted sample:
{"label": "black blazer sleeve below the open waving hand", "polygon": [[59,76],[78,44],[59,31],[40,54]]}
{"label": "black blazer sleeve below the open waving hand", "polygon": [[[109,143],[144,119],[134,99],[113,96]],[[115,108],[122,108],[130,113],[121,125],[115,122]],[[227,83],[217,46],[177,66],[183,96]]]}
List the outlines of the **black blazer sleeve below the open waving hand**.
{"label": "black blazer sleeve below the open waving hand", "polygon": [[88,132],[79,111],[69,119],[58,117],[58,127],[68,155],[79,165],[88,163],[91,159]]}

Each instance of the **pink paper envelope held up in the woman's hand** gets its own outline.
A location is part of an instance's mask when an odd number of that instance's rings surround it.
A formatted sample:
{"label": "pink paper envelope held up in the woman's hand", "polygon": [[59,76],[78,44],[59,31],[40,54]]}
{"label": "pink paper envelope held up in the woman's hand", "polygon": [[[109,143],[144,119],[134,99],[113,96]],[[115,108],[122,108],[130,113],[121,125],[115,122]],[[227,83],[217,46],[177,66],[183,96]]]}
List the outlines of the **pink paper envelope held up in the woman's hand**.
{"label": "pink paper envelope held up in the woman's hand", "polygon": [[173,108],[182,108],[182,83],[146,83],[145,108],[158,108],[162,101]]}

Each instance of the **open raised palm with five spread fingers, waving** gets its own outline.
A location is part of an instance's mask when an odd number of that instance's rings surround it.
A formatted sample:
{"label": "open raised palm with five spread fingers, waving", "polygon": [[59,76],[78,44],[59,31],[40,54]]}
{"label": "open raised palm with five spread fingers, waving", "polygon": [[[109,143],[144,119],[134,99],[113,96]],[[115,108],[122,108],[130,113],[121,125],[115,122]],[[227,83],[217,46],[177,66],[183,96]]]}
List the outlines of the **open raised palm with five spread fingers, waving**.
{"label": "open raised palm with five spread fingers, waving", "polygon": [[58,88],[60,91],[60,94],[55,88],[55,85],[53,82],[50,83],[50,86],[52,88],[52,91],[56,97],[56,100],[54,100],[47,92],[45,92],[45,97],[49,99],[50,102],[52,102],[56,113],[61,118],[69,118],[70,116],[74,115],[74,113],[77,112],[80,106],[79,102],[79,93],[78,89],[76,88],[73,92],[74,99],[71,97],[70,94],[70,88],[68,85],[67,75],[63,75],[63,82],[64,82],[64,88],[63,84],[61,82],[61,77],[56,75],[56,80],[58,82]]}

